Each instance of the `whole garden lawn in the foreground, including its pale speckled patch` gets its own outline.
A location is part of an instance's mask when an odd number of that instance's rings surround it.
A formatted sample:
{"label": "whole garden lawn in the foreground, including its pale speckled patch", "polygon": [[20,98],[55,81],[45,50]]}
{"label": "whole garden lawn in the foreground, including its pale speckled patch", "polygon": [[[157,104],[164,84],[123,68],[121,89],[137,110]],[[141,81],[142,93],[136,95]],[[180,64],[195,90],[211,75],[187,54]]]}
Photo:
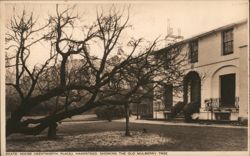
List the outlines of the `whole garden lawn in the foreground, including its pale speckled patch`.
{"label": "whole garden lawn in the foreground, including its pale speckled patch", "polygon": [[[124,137],[122,122],[63,122],[58,140],[13,135],[7,151],[246,151],[246,128],[130,124],[132,137]],[[143,132],[146,129],[146,133]]]}

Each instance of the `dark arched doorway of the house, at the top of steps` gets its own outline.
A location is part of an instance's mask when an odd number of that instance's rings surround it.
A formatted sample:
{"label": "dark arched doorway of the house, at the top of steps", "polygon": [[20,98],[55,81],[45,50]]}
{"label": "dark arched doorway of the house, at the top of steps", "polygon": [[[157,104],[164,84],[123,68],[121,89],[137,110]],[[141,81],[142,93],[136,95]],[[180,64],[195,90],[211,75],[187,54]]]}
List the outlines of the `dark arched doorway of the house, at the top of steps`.
{"label": "dark arched doorway of the house, at the top of steps", "polygon": [[201,79],[199,74],[195,71],[189,72],[184,78],[184,103],[187,104],[190,102],[197,102],[197,108],[200,108]]}

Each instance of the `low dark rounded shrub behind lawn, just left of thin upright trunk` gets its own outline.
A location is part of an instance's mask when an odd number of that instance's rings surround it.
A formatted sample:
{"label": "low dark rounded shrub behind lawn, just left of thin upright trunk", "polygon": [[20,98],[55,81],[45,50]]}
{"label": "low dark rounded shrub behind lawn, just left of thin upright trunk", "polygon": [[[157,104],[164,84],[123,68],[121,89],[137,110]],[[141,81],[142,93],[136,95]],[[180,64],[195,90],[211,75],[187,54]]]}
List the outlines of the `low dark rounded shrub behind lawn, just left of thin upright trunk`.
{"label": "low dark rounded shrub behind lawn, just left of thin upright trunk", "polygon": [[125,117],[125,110],[122,105],[106,105],[102,107],[98,107],[95,110],[95,114],[99,119],[105,120],[113,120],[113,119],[121,119]]}

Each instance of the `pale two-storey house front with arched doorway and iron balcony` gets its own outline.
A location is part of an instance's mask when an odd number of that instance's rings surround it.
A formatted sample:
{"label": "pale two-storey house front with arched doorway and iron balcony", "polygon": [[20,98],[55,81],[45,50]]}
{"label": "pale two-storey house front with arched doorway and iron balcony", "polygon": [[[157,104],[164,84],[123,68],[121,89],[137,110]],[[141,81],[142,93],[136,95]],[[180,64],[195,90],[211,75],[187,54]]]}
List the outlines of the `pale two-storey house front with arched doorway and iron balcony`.
{"label": "pale two-storey house front with arched doorway and iron balcony", "polygon": [[[181,41],[188,57],[183,68],[182,97],[154,100],[154,118],[165,118],[177,101],[198,102],[192,117],[200,120],[248,118],[248,21],[229,24]],[[173,84],[174,85],[174,84]],[[168,96],[172,93],[166,94]],[[157,106],[156,106],[157,105]]]}

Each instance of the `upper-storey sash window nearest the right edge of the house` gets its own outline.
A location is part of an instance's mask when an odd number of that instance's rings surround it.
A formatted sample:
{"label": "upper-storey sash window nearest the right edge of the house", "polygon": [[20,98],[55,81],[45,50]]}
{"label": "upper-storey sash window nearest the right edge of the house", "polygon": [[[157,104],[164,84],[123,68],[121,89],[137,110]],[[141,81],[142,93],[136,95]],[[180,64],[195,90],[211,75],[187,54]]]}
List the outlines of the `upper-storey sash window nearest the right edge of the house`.
{"label": "upper-storey sash window nearest the right edge of the house", "polygon": [[233,53],[233,29],[223,32],[223,55]]}

